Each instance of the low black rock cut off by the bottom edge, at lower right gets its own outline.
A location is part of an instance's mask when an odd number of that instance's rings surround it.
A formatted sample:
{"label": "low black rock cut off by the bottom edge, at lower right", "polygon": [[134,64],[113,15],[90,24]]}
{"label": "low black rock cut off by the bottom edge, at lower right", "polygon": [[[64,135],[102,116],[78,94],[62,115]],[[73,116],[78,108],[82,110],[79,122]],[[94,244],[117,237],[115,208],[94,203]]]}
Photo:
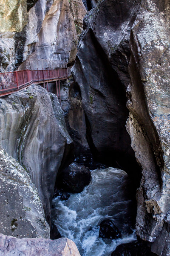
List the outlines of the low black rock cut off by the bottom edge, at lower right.
{"label": "low black rock cut off by the bottom edge, at lower right", "polygon": [[144,242],[131,242],[128,244],[120,244],[111,256],[156,256],[152,253]]}

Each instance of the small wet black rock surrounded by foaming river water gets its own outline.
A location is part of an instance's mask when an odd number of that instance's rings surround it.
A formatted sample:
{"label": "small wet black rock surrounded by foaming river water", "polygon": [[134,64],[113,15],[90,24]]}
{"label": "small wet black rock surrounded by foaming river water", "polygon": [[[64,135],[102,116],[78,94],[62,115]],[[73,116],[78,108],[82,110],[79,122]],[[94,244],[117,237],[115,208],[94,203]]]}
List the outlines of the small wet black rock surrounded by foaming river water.
{"label": "small wet black rock surrounded by foaming river water", "polygon": [[118,228],[108,219],[100,223],[99,237],[109,239],[122,238]]}

